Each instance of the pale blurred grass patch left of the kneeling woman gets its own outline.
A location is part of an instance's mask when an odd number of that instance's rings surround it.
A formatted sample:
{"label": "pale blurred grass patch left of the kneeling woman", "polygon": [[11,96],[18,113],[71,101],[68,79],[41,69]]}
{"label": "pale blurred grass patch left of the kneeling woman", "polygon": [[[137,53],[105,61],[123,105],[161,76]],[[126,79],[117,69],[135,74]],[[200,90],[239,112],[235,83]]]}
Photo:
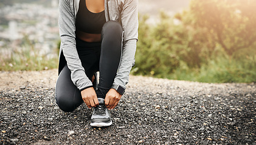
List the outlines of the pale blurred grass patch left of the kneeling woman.
{"label": "pale blurred grass patch left of the kneeling woman", "polygon": [[0,71],[40,71],[57,67],[58,54],[54,54],[52,57],[40,54],[40,51],[31,43],[25,43],[23,47],[0,55]]}

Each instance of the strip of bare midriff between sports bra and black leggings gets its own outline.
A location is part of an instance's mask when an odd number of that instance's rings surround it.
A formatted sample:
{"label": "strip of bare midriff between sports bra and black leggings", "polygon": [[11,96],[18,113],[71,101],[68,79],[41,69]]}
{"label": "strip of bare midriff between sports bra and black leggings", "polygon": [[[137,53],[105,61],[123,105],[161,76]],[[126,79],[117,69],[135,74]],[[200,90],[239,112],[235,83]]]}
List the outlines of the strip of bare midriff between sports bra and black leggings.
{"label": "strip of bare midriff between sports bra and black leggings", "polygon": [[84,40],[85,42],[100,42],[102,41],[101,34],[90,34],[80,30],[75,31],[75,36],[78,39]]}

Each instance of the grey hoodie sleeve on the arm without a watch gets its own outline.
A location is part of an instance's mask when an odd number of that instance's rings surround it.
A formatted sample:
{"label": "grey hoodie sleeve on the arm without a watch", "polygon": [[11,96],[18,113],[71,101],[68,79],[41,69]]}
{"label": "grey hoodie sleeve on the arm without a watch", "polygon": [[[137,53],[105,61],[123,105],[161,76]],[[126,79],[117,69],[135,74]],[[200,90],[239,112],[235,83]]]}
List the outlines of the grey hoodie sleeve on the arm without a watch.
{"label": "grey hoodie sleeve on the arm without a watch", "polygon": [[81,91],[92,86],[92,82],[86,76],[77,53],[73,2],[60,0],[59,12],[61,49],[67,61],[67,67],[71,70],[71,80]]}

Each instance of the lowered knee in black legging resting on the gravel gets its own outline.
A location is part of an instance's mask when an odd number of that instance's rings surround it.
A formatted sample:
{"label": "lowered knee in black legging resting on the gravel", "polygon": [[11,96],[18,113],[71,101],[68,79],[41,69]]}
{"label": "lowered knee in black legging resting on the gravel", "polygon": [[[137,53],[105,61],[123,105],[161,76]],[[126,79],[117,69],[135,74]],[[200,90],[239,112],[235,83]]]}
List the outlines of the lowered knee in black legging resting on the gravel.
{"label": "lowered knee in black legging resting on the gravel", "polygon": [[56,103],[64,112],[72,112],[75,110],[72,100],[67,99],[63,94],[55,94]]}

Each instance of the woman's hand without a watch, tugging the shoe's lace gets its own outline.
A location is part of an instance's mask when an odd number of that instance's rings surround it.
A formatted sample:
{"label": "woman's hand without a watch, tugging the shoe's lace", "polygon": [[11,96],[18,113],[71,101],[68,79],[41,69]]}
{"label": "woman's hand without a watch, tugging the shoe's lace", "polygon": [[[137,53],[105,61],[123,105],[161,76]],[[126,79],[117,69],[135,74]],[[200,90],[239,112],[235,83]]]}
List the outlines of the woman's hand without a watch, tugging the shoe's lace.
{"label": "woman's hand without a watch, tugging the shoe's lace", "polygon": [[85,103],[89,109],[99,105],[99,101],[98,101],[96,92],[94,91],[94,88],[92,88],[92,87],[81,91],[81,97],[83,98],[83,101],[85,101]]}

